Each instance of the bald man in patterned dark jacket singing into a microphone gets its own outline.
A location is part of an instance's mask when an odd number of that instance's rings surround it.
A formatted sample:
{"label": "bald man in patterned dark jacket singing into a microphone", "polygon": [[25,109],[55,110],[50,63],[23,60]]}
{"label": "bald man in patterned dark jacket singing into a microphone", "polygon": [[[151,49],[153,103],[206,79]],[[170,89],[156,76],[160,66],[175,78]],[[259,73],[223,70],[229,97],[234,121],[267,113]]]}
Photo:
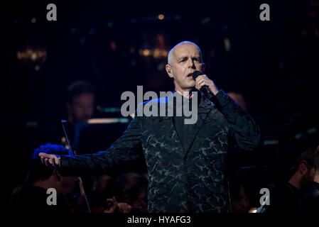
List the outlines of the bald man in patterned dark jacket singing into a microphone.
{"label": "bald man in patterned dark jacket singing into a microphone", "polygon": [[[196,80],[192,77],[195,70],[202,72]],[[175,91],[138,108],[155,103],[158,111],[166,107],[165,116],[136,114],[123,135],[105,151],[81,156],[42,153],[41,160],[58,168],[62,175],[82,175],[107,172],[144,155],[149,177],[148,212],[229,212],[227,155],[234,143],[243,150],[256,148],[260,132],[252,117],[217,89],[204,70],[198,45],[188,41],[178,43],[169,52],[166,65]],[[196,95],[202,86],[209,87],[215,103]],[[173,116],[168,114],[170,104]],[[188,116],[184,111],[181,116],[177,114],[184,110],[184,105],[197,110],[195,123],[185,124]]]}

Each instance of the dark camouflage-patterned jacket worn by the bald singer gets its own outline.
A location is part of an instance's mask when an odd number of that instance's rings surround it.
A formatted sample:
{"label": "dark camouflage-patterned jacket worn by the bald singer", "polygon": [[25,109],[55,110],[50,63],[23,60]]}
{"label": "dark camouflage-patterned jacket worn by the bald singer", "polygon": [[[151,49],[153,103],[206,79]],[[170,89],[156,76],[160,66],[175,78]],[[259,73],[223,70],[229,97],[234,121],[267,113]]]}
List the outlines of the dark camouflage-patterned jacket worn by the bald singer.
{"label": "dark camouflage-patterned jacket worn by the bald singer", "polygon": [[[243,150],[253,150],[260,131],[225,92],[218,92],[216,99],[221,109],[200,101],[189,148],[180,142],[172,116],[136,116],[109,149],[65,155],[61,170],[68,175],[105,172],[145,155],[149,212],[229,212],[227,153],[234,141]],[[167,105],[171,96],[152,101]]]}

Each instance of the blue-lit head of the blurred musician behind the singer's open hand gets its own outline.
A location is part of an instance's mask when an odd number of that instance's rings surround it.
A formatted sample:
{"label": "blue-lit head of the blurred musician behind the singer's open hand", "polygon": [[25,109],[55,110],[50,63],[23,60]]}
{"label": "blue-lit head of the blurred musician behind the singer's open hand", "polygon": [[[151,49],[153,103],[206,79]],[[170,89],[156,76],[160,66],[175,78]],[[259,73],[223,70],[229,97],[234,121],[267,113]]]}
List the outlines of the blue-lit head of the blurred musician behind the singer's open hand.
{"label": "blue-lit head of the blurred musician behind the singer's open hand", "polygon": [[63,177],[57,170],[42,164],[39,153],[50,155],[68,155],[67,149],[61,145],[47,143],[40,145],[33,151],[28,167],[28,182],[33,186],[48,188],[54,187],[58,194],[63,192],[70,193],[75,187],[77,177]]}

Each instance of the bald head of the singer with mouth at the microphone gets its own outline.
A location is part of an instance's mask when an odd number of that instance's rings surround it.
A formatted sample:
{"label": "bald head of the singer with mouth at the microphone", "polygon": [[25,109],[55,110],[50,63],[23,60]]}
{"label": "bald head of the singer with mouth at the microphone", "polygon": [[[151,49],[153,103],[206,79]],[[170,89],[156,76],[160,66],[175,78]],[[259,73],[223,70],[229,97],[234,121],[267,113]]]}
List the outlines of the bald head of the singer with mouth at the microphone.
{"label": "bald head of the singer with mouth at the microphone", "polygon": [[184,41],[168,52],[166,72],[174,79],[176,91],[190,92],[195,87],[195,80],[191,77],[195,70],[202,73],[205,70],[202,52],[198,45]]}

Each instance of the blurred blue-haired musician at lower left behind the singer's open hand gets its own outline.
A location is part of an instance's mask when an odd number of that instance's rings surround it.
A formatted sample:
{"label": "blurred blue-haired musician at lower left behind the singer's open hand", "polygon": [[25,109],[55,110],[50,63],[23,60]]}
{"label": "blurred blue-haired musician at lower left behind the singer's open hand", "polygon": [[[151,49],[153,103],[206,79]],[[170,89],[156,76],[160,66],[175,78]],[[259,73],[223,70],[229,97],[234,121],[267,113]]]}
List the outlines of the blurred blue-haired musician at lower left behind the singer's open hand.
{"label": "blurred blue-haired musician at lower left behind the singer's open hand", "polygon": [[[61,145],[40,145],[33,151],[29,162],[27,181],[16,187],[11,194],[9,211],[11,213],[70,213],[77,177],[63,177],[58,170],[43,165],[38,160],[39,153],[67,155]],[[57,194],[57,204],[48,205],[47,189],[53,188]]]}

